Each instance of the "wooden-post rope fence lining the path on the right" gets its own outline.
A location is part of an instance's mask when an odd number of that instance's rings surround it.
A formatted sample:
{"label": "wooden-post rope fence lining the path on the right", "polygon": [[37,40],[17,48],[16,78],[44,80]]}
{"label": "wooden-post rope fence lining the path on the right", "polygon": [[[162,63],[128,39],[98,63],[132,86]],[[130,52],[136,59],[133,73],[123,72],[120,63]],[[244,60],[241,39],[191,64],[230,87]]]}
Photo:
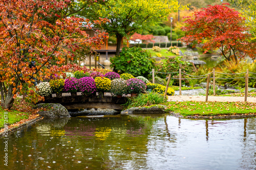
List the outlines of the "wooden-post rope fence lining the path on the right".
{"label": "wooden-post rope fence lining the path on the right", "polygon": [[[166,94],[167,94],[167,89],[168,89],[168,85],[169,85],[169,81],[170,79],[177,79],[179,80],[179,94],[181,95],[181,80],[193,80],[193,79],[205,79],[207,78],[207,82],[206,82],[206,99],[205,102],[208,102],[208,90],[209,90],[209,81],[210,79],[213,79],[213,91],[214,91],[214,95],[216,95],[215,93],[215,79],[245,79],[245,102],[247,101],[247,96],[248,96],[248,79],[256,79],[253,77],[248,77],[249,73],[250,74],[256,74],[254,72],[249,72],[249,70],[247,69],[246,72],[241,72],[241,73],[234,73],[234,74],[228,74],[228,73],[223,73],[223,72],[216,72],[215,69],[212,69],[212,72],[209,72],[206,75],[201,75],[201,76],[193,76],[193,75],[188,75],[185,72],[181,71],[181,68],[179,69],[179,71],[177,72],[157,72],[154,69],[152,69],[152,72],[150,72],[150,74],[152,74],[152,78],[153,78],[153,83],[155,83],[155,73],[160,73],[160,74],[169,74],[168,81],[167,81],[167,85],[166,85],[166,89],[165,89],[165,93],[164,93],[164,97],[166,98]],[[171,78],[171,74],[175,74],[175,73],[179,73],[179,78]],[[238,77],[238,78],[218,78],[215,77],[215,74],[223,74],[223,75],[240,75],[240,74],[245,74],[245,77]],[[197,77],[197,78],[181,78],[183,75],[186,76],[191,76],[191,77]],[[213,75],[212,77],[210,77],[210,75]],[[207,76],[207,77],[202,77],[202,76]]]}

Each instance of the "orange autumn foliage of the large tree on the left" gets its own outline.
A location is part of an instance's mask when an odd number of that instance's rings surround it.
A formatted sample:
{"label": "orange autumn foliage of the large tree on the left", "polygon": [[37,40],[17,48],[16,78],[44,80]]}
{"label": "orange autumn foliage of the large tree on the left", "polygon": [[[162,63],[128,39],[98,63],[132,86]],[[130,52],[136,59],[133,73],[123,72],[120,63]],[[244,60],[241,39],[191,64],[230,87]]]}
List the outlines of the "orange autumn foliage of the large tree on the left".
{"label": "orange autumn foliage of the large tree on the left", "polygon": [[[84,28],[107,22],[90,22],[78,17],[63,18],[58,13],[67,8],[57,0],[0,0],[0,92],[1,105],[12,107],[16,94],[38,98],[32,87],[35,79],[44,81],[71,66],[74,51],[84,47],[99,48],[108,33],[97,30],[89,37]],[[50,23],[51,17],[57,17]],[[35,62],[35,66],[31,66]]]}

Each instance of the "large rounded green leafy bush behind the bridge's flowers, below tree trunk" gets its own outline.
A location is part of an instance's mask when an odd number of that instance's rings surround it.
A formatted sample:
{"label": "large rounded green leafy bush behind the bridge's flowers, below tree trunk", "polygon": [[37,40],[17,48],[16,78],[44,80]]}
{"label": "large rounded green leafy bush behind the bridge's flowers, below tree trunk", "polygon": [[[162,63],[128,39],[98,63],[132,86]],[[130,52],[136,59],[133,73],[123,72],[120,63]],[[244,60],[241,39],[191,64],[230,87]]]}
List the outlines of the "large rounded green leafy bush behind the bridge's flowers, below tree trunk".
{"label": "large rounded green leafy bush behind the bridge's flowers, below tree trunk", "polygon": [[120,56],[110,58],[111,67],[115,72],[128,73],[135,77],[147,77],[154,68],[155,59],[151,53],[139,47],[123,47]]}

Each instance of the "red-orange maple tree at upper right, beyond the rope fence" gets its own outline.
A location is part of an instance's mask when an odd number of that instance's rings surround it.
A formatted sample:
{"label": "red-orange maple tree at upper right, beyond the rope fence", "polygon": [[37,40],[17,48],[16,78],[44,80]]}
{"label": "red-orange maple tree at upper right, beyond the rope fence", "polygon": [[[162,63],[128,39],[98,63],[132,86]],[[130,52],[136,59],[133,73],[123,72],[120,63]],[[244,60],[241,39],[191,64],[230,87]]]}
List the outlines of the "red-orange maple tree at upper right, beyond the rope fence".
{"label": "red-orange maple tree at upper right, beyond the rope fence", "polygon": [[181,41],[194,46],[203,43],[205,53],[219,49],[227,60],[237,62],[246,55],[254,59],[255,45],[249,42],[251,34],[244,25],[245,18],[227,5],[208,6],[186,17],[182,28],[186,35]]}

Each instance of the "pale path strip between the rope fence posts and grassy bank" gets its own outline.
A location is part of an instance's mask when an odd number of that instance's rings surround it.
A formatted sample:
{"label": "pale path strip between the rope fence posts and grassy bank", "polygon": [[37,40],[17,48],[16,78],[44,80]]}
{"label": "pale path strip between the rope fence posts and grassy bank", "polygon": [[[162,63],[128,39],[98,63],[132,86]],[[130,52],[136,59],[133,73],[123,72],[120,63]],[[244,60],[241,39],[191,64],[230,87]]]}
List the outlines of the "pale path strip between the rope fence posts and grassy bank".
{"label": "pale path strip between the rope fence posts and grassy bank", "polygon": [[[202,101],[205,102],[204,95],[173,95],[168,96],[168,101]],[[208,96],[209,102],[244,102],[244,97],[237,96]],[[255,97],[247,97],[247,102],[256,103]]]}

